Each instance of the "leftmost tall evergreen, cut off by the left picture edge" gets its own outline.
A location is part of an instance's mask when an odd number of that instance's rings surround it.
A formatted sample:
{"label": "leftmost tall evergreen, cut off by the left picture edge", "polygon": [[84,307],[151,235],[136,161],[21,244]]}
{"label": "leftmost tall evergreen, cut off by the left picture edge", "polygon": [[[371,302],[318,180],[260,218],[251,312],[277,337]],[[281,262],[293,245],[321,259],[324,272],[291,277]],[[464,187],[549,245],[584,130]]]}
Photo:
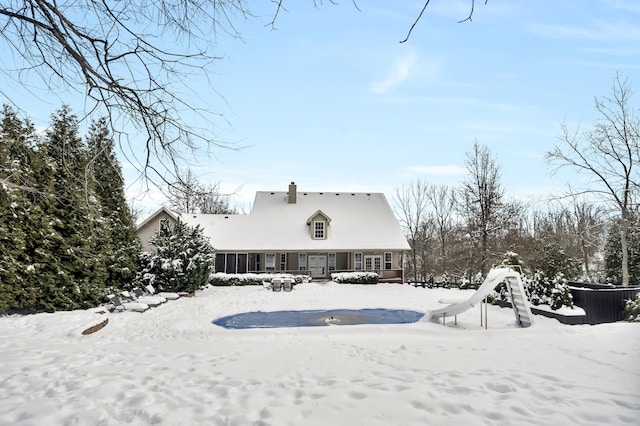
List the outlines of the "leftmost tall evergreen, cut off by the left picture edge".
{"label": "leftmost tall evergreen, cut off by the left picture edge", "polygon": [[52,310],[46,288],[61,265],[51,248],[62,244],[45,214],[53,174],[36,133],[9,107],[0,122],[0,312]]}

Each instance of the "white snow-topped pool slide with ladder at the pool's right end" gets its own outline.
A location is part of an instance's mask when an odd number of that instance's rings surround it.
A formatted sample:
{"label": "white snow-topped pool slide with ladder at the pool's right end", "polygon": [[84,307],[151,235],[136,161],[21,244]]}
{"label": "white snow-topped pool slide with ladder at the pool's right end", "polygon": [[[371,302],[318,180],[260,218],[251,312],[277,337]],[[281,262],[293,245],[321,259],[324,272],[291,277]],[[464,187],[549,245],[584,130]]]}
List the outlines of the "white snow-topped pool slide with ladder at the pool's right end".
{"label": "white snow-topped pool slide with ladder at the pool's right end", "polygon": [[493,268],[490,270],[482,285],[468,299],[440,300],[440,303],[446,304],[447,306],[429,311],[429,318],[442,318],[444,320],[448,316],[461,314],[473,308],[478,303],[481,303],[482,300],[501,282],[504,282],[507,285],[507,290],[511,296],[513,312],[518,324],[520,327],[529,327],[533,324],[533,316],[531,315],[529,301],[527,300],[522,280],[520,279],[520,274],[511,268]]}

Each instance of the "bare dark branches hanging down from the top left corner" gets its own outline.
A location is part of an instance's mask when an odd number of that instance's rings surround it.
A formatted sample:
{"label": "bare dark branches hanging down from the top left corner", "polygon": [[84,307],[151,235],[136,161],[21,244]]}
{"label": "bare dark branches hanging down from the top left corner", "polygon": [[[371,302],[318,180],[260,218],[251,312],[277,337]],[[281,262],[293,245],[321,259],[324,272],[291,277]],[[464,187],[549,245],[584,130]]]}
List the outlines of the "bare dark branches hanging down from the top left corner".
{"label": "bare dark branches hanging down from the top left corner", "polygon": [[[212,32],[240,37],[233,21],[249,16],[244,0],[8,0],[0,40],[23,63],[4,71],[25,88],[35,75],[51,91],[83,93],[85,113],[109,116],[127,159],[146,178],[165,181],[198,147],[231,146],[189,124],[186,116],[212,120],[184,97],[193,89],[182,82],[219,59],[207,53]],[[161,47],[170,34],[173,50]],[[128,126],[146,137],[129,138]]]}

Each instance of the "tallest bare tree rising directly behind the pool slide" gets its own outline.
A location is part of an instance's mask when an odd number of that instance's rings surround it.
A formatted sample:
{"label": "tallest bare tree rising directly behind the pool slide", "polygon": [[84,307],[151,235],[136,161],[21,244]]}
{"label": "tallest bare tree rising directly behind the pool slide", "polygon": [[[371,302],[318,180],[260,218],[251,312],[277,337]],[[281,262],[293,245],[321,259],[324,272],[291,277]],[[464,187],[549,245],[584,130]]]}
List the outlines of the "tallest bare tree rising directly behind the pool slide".
{"label": "tallest bare tree rising directly behind the pool slide", "polygon": [[460,212],[467,219],[469,236],[479,244],[480,272],[489,266],[489,242],[493,232],[500,229],[502,198],[500,167],[488,147],[473,144],[465,162],[467,179],[459,189]]}

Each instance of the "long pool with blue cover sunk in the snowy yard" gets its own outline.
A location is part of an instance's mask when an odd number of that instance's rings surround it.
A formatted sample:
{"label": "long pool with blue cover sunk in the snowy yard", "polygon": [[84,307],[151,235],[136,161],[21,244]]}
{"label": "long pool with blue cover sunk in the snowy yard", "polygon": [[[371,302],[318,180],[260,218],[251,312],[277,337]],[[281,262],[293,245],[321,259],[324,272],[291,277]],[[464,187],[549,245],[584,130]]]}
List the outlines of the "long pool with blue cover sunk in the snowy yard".
{"label": "long pool with blue cover sunk in the snowy yard", "polygon": [[424,312],[403,309],[332,309],[309,311],[244,312],[212,321],[224,328],[318,327],[356,324],[408,324]]}

